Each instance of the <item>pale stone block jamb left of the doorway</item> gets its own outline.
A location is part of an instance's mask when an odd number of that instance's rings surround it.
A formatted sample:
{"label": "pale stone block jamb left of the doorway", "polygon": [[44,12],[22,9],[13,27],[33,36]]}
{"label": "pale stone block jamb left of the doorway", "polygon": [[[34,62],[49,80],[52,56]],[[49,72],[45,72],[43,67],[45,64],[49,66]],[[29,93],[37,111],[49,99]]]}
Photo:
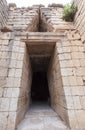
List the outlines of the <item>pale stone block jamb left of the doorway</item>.
{"label": "pale stone block jamb left of the doorway", "polygon": [[24,53],[25,43],[13,40],[8,69],[7,87],[5,89],[5,96],[8,97],[10,104],[8,110],[9,117],[7,130],[14,130],[16,126]]}

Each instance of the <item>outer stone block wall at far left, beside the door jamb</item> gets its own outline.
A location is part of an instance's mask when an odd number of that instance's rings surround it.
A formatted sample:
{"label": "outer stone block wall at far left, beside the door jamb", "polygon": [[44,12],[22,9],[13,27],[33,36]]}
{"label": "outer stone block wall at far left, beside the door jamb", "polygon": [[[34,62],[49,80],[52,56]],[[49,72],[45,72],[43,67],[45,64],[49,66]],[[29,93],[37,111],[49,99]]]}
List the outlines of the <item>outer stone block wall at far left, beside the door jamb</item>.
{"label": "outer stone block wall at far left, beside the door jamb", "polygon": [[[12,40],[10,33],[0,33],[0,129],[6,130],[8,125],[10,93],[8,91],[8,66],[12,54]],[[11,85],[11,82],[10,82]],[[3,121],[4,120],[4,121]]]}

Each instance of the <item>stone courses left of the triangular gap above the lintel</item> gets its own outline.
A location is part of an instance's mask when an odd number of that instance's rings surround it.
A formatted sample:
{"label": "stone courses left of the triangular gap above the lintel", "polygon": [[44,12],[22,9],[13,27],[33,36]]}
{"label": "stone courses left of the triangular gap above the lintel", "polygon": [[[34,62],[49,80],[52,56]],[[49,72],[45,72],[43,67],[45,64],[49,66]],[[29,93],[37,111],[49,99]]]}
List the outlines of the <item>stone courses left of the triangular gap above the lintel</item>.
{"label": "stone courses left of the triangular gap above the lintel", "polygon": [[15,4],[10,4],[7,27],[12,31],[36,32],[39,23],[38,12],[38,8],[17,8]]}

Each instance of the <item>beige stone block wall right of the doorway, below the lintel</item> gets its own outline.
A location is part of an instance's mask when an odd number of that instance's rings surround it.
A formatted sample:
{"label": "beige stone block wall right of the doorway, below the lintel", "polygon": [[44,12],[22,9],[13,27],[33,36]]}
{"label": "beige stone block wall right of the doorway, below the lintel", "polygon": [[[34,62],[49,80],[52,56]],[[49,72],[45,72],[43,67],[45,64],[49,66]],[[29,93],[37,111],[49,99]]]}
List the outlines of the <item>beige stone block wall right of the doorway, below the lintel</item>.
{"label": "beige stone block wall right of the doorway, below the lintel", "polygon": [[66,100],[65,109],[67,110],[70,128],[84,129],[84,44],[81,40],[75,40],[71,37],[68,39],[62,43],[57,43],[62,84]]}

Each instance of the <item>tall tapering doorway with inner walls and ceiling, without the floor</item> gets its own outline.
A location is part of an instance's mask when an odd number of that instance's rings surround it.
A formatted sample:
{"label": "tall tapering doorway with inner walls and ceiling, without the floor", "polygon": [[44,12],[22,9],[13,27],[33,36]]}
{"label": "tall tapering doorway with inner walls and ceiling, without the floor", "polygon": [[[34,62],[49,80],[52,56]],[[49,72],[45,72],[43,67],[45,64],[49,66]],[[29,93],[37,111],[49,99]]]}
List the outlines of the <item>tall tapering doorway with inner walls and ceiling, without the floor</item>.
{"label": "tall tapering doorway with inner walls and ceiling, without the floor", "polygon": [[[54,42],[56,41],[55,38],[53,41],[49,39],[50,36],[48,38],[46,36],[42,36],[42,38],[36,36],[34,41],[32,35],[29,36],[29,39],[25,39],[25,37],[22,39],[26,43],[25,64],[23,66],[25,71],[22,74],[27,78],[26,87],[22,86],[26,92],[25,112],[31,108],[35,101],[40,101],[42,104],[45,101],[48,106],[50,104],[50,108],[58,113],[62,120],[68,122],[66,111],[63,113],[66,102],[62,87],[57,43]],[[42,88],[42,86],[44,87]]]}

